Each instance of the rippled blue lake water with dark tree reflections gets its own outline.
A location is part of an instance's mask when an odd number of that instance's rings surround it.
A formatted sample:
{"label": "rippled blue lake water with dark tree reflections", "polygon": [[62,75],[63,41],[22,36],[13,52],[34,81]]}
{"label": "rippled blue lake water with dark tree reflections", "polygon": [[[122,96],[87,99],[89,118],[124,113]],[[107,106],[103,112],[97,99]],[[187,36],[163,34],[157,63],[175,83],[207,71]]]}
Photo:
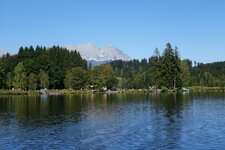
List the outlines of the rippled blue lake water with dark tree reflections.
{"label": "rippled blue lake water with dark tree reflections", "polygon": [[0,149],[224,149],[225,94],[1,96]]}

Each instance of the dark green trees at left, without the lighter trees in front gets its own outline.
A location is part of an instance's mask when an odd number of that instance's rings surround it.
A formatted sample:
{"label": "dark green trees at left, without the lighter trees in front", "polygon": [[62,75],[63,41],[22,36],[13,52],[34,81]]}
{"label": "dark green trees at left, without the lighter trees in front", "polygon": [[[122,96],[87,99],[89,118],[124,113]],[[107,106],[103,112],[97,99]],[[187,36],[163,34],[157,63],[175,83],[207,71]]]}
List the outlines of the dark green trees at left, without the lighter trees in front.
{"label": "dark green trees at left, without the lighter trees in front", "polygon": [[[64,88],[64,78],[68,70],[74,67],[87,68],[86,60],[83,60],[77,51],[69,51],[66,48],[53,46],[45,48],[37,46],[36,48],[21,47],[18,54],[6,54],[0,58],[0,88],[12,87],[9,84],[7,74],[14,74],[14,69],[18,63],[23,63],[24,76],[34,73],[39,74],[39,70],[47,73],[48,83],[37,87],[49,87],[55,89]],[[14,76],[18,76],[15,75]],[[26,76],[29,78],[29,76]],[[28,79],[29,80],[29,79]],[[26,81],[28,82],[28,81]],[[29,83],[24,83],[24,89],[29,88]],[[21,85],[13,84],[15,88],[21,88]],[[19,87],[18,87],[19,86]]]}

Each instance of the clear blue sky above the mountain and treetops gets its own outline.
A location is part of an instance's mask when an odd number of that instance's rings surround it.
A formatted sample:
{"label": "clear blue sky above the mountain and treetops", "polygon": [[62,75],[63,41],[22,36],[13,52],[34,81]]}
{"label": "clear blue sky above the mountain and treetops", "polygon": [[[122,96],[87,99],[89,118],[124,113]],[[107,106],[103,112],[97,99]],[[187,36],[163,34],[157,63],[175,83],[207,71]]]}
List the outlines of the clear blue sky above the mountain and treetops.
{"label": "clear blue sky above the mountain and treetops", "polygon": [[113,44],[148,58],[166,43],[182,59],[225,61],[224,0],[0,0],[0,49]]}

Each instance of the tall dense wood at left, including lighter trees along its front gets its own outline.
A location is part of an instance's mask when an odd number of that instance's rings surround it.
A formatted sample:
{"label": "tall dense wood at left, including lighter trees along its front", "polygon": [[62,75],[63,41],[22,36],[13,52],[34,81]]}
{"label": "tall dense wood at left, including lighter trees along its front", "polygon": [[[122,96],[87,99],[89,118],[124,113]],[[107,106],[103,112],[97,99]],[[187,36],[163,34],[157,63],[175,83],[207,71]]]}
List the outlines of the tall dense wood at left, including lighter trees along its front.
{"label": "tall dense wood at left, including lighter trees along its front", "polygon": [[53,46],[21,47],[18,54],[0,59],[0,88],[62,89],[65,74],[74,67],[86,69],[87,62],[79,52]]}

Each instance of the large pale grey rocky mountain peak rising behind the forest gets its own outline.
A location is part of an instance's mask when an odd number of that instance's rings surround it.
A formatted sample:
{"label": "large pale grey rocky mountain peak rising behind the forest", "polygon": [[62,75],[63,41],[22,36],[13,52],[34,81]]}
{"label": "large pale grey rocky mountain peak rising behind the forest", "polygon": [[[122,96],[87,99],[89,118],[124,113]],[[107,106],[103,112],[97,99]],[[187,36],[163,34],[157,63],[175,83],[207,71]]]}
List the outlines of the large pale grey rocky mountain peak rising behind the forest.
{"label": "large pale grey rocky mountain peak rising behind the forest", "polygon": [[122,50],[108,45],[103,48],[99,48],[94,44],[82,44],[78,46],[65,46],[69,50],[77,50],[81,56],[88,61],[113,61],[113,60],[131,60],[131,58],[125,54]]}

